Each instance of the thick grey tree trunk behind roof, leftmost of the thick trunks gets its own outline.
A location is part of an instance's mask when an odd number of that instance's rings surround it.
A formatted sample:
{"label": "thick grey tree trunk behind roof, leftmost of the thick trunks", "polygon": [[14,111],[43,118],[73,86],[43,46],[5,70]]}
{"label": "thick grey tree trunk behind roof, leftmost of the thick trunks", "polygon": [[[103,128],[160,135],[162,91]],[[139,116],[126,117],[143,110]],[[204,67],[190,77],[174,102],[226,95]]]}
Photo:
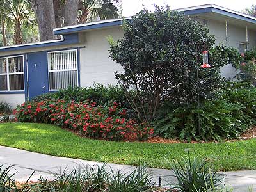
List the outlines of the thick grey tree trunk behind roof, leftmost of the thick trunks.
{"label": "thick grey tree trunk behind roof, leftmost of the thick trunks", "polygon": [[40,40],[53,40],[56,35],[53,33],[55,28],[55,14],[53,0],[31,0],[32,9],[38,20]]}

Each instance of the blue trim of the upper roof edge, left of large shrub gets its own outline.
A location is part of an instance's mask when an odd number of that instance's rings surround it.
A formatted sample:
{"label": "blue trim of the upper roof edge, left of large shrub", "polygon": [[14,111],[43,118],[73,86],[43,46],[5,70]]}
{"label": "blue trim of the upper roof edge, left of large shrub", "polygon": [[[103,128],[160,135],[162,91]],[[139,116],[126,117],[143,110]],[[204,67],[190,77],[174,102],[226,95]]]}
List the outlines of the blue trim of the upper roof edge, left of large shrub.
{"label": "blue trim of the upper roof edge, left of large shrub", "polygon": [[75,26],[74,28],[68,28],[68,29],[59,29],[54,31],[55,35],[61,35],[61,34],[67,34],[67,33],[75,33],[78,31],[84,31],[88,29],[99,29],[99,28],[106,28],[110,26],[121,26],[123,24],[123,20],[115,20],[111,22],[104,22],[99,24],[92,24],[87,26]]}

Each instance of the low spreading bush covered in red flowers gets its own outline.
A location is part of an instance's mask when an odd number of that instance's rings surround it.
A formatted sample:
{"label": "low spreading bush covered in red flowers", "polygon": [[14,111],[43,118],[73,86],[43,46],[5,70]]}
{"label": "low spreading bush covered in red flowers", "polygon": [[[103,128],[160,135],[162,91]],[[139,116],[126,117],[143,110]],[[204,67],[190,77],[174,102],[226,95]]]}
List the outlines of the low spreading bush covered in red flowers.
{"label": "low spreading bush covered in red flowers", "polygon": [[63,99],[26,102],[15,111],[20,122],[44,122],[80,131],[83,136],[106,140],[147,140],[153,130],[125,118],[125,108],[116,102],[96,106],[95,102]]}

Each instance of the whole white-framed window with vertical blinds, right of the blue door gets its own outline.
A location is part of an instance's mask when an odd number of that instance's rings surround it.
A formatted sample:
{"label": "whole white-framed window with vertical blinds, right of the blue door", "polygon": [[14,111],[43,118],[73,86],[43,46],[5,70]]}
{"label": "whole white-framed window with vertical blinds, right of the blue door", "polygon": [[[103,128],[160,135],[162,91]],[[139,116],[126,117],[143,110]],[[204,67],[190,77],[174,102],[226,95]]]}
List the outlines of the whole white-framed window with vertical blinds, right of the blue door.
{"label": "whole white-framed window with vertical blinds, right of the blue door", "polygon": [[77,51],[48,52],[49,90],[75,87],[78,84]]}

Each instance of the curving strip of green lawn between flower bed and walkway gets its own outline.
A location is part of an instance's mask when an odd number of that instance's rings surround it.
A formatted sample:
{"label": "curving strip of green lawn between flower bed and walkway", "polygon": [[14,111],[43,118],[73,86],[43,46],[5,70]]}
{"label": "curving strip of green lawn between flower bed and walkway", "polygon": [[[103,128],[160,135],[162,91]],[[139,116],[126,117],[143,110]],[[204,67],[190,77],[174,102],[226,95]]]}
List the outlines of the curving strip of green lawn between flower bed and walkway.
{"label": "curving strip of green lawn between flower bed and walkway", "polygon": [[[181,159],[189,148],[191,156],[211,159],[218,170],[256,169],[256,139],[233,143],[151,144],[90,140],[47,124],[0,124],[0,145],[42,154],[91,161],[170,168],[172,157]],[[168,160],[168,161],[167,161]]]}

